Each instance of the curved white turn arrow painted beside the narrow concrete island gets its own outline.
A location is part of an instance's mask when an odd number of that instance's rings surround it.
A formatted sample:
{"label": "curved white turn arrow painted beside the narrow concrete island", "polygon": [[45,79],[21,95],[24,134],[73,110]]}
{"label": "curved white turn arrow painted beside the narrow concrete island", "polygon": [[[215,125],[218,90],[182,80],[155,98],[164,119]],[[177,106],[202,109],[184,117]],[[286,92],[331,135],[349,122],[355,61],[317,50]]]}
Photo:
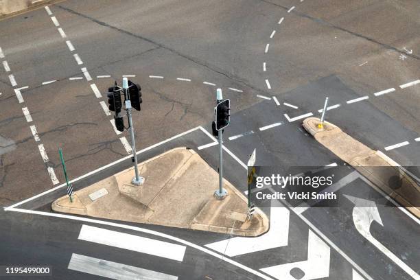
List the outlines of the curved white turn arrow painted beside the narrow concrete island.
{"label": "curved white turn arrow painted beside the narrow concrete island", "polygon": [[381,226],[384,226],[384,224],[382,224],[380,213],[377,211],[375,202],[362,198],[355,198],[353,196],[344,196],[355,205],[353,208],[353,222],[358,232],[363,235],[366,240],[371,242],[376,248],[381,250],[382,253],[394,261],[397,266],[404,270],[413,279],[420,280],[420,275],[418,275],[415,270],[412,270],[404,263],[404,261],[401,261],[401,259],[399,259],[396,255],[394,255],[394,253],[388,250],[388,248],[382,245],[375,239],[375,237],[371,235],[370,229],[373,221],[376,221]]}

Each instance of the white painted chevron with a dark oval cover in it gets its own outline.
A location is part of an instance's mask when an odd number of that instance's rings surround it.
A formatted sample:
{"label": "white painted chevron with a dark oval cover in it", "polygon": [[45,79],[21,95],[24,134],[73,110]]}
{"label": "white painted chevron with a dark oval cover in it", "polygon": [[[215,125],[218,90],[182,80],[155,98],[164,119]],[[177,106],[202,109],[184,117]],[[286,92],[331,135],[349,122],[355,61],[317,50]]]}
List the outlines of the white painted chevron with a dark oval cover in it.
{"label": "white painted chevron with a dark oval cover in it", "polygon": [[261,270],[268,275],[281,280],[296,280],[296,278],[290,274],[290,270],[293,268],[300,268],[305,273],[301,280],[325,278],[329,276],[329,255],[329,246],[325,244],[320,237],[309,230],[306,261],[280,264],[278,266],[261,268]]}

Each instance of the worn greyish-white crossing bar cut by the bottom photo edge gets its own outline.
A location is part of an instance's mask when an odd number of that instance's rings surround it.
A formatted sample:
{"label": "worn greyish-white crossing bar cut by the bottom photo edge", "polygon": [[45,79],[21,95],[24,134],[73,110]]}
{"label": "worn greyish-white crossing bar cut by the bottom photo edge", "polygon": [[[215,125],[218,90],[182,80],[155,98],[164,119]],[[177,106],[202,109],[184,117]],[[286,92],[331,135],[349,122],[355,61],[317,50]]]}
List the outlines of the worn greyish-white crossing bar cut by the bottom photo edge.
{"label": "worn greyish-white crossing bar cut by the bottom photo edge", "polygon": [[108,279],[156,279],[156,280],[177,280],[178,277],[167,275],[165,273],[156,272],[126,264],[119,264],[105,259],[97,259],[95,257],[86,257],[73,253],[71,255],[68,269],[106,277]]}

